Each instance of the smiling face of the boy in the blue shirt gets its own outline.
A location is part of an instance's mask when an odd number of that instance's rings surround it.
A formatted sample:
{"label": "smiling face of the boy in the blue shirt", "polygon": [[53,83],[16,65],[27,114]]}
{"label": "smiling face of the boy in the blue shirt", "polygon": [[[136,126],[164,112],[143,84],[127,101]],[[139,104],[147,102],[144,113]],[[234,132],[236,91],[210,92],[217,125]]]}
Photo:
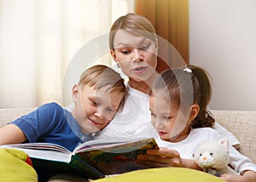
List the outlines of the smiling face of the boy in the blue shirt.
{"label": "smiling face of the boy in the blue shirt", "polygon": [[97,90],[87,85],[82,88],[74,86],[72,113],[82,132],[91,134],[106,127],[118,111],[123,97],[124,93],[109,92],[108,86]]}

